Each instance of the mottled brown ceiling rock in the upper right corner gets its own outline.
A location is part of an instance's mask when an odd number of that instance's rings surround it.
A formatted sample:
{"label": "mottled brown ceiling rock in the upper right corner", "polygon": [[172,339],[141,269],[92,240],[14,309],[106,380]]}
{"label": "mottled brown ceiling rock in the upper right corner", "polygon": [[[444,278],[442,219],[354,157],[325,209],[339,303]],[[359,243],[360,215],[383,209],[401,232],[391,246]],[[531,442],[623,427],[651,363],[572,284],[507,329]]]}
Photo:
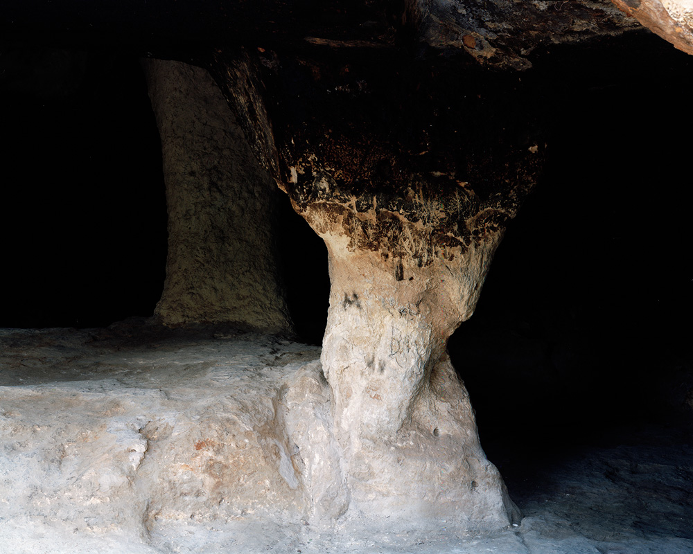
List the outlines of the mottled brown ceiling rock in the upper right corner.
{"label": "mottled brown ceiling rock in the upper right corner", "polygon": [[501,68],[527,69],[537,46],[617,35],[638,22],[693,53],[689,0],[412,0],[407,15],[423,44]]}

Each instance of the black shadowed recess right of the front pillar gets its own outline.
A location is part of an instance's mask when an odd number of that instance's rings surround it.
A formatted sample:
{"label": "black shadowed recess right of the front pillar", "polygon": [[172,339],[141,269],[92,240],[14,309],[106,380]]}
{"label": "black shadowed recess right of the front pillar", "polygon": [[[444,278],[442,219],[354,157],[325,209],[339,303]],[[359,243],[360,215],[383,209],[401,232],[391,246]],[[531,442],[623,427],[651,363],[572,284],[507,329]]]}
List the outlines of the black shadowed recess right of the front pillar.
{"label": "black shadowed recess right of the front pillar", "polygon": [[543,179],[449,343],[492,460],[691,412],[693,61],[653,35],[550,54]]}

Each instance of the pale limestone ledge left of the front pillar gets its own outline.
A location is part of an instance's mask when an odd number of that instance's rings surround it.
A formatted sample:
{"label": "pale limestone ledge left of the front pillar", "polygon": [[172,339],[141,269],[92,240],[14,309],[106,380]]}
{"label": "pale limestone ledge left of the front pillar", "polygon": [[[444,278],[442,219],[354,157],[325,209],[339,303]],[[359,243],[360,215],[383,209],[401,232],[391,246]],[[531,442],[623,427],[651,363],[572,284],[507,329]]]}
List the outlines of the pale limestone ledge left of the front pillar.
{"label": "pale limestone ledge left of the front pillar", "polygon": [[[127,537],[129,552],[148,553],[171,522],[308,517],[282,419],[297,366],[275,364],[310,361],[315,348],[275,356],[271,341],[168,341],[80,356],[93,340],[3,334],[0,537],[12,552],[35,552],[23,545],[46,535],[51,551],[69,551],[78,534],[100,552]],[[10,359],[29,344],[44,355],[12,375]]]}

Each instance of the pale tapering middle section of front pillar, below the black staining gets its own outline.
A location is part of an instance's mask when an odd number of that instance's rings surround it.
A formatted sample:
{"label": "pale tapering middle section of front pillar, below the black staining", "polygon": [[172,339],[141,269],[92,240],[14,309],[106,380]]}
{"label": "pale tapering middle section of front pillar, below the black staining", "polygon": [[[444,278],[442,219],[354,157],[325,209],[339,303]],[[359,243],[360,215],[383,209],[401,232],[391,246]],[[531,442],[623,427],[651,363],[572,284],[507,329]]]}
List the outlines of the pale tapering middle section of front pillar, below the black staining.
{"label": "pale tapering middle section of front pillar, below the black staining", "polygon": [[498,237],[424,267],[349,251],[338,235],[324,239],[331,298],[322,365],[335,391],[337,427],[358,449],[361,437],[394,436],[412,422],[448,337],[473,312]]}

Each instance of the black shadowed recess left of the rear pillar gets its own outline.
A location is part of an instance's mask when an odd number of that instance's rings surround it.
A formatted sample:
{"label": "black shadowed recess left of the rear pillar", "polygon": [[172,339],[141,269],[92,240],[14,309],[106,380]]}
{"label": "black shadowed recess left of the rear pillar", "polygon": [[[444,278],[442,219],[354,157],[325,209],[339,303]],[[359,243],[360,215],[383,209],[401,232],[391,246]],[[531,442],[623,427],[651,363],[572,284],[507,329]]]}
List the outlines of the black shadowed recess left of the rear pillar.
{"label": "black shadowed recess left of the rear pillar", "polygon": [[1,54],[0,327],[151,316],[166,198],[137,58],[36,46]]}

